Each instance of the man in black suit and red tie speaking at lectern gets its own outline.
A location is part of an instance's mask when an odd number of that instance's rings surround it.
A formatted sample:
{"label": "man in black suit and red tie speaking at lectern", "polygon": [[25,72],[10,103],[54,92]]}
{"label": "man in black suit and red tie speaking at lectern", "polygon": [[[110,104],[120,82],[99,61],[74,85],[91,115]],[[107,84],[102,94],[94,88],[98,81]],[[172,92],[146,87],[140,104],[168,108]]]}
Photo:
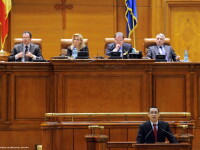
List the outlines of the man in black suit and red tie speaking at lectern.
{"label": "man in black suit and red tie speaking at lectern", "polygon": [[140,125],[137,143],[165,142],[165,138],[170,143],[178,143],[169,124],[164,121],[158,121],[159,116],[159,109],[157,107],[149,109],[148,117],[150,120]]}

